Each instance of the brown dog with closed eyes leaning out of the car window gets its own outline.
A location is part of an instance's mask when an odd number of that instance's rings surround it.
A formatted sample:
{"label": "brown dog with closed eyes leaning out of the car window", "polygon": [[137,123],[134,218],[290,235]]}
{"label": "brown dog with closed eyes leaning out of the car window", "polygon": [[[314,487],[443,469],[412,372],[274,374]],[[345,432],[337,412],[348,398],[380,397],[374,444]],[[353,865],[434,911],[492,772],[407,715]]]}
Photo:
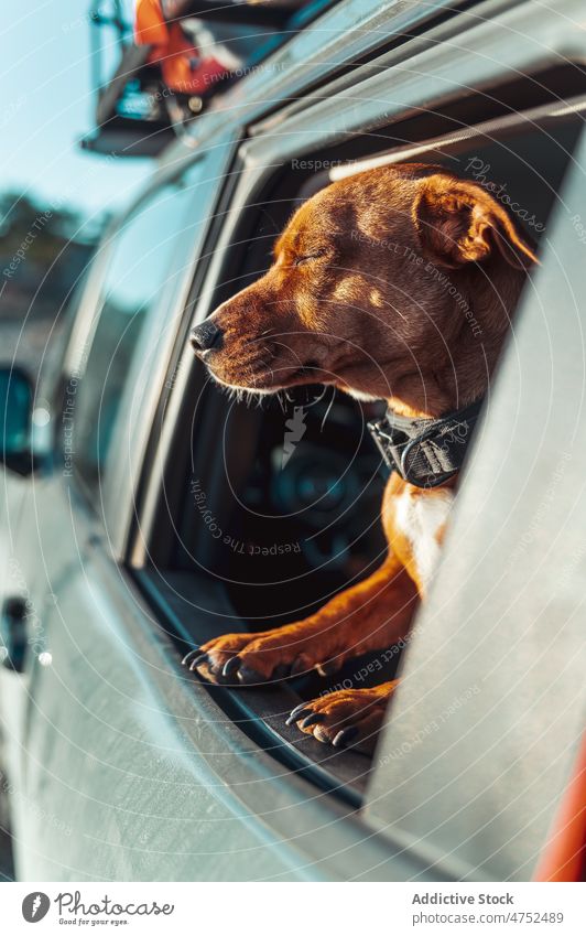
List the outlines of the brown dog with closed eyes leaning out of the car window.
{"label": "brown dog with closed eyes leaning out of the car window", "polygon": [[[438,166],[383,166],[302,205],[270,270],[196,327],[192,345],[228,387],[335,385],[387,400],[391,418],[414,420],[416,434],[481,400],[532,262],[479,185]],[[332,673],[404,637],[452,504],[456,472],[443,469],[424,484],[409,471],[391,474],[389,551],[373,575],[299,623],[209,641],[187,655],[192,669],[228,685]],[[330,692],[295,709],[290,723],[335,746],[372,749],[395,685]]]}

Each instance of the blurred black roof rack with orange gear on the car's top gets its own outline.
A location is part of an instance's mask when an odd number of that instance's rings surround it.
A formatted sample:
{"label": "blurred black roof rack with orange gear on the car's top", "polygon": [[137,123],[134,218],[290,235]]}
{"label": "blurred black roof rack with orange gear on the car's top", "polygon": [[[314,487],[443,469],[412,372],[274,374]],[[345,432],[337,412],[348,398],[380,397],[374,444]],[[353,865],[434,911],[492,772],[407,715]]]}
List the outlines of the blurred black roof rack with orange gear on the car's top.
{"label": "blurred black roof rack with orange gear on the car's top", "polygon": [[334,0],[91,0],[96,128],[82,147],[158,155]]}

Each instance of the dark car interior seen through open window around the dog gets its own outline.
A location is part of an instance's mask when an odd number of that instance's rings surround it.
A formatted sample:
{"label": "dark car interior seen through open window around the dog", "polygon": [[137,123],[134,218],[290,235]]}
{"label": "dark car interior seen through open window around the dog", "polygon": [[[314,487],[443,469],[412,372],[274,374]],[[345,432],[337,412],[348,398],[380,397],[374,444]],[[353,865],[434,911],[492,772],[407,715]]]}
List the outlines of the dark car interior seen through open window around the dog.
{"label": "dark car interior seen through open window around the dog", "polygon": [[[275,235],[301,202],[373,160],[440,164],[480,184],[498,180],[525,236],[539,241],[586,106],[578,97],[575,106],[558,103],[567,77],[575,89],[575,71],[566,76],[555,69],[464,98],[442,114],[406,115],[376,133],[312,152],[312,160],[335,166],[317,174],[291,166],[267,170],[261,197],[239,208],[211,308],[265,271]],[[306,157],[300,152],[300,159]],[[191,321],[186,316],[185,330]],[[186,331],[180,346],[185,338]],[[149,562],[134,571],[181,655],[217,634],[262,631],[307,616],[372,571],[384,549],[379,512],[387,474],[366,431],[381,404],[359,404],[323,387],[238,402],[206,381],[202,370],[194,366],[182,401]],[[163,402],[154,440],[164,417]],[[400,659],[395,648],[383,663],[380,654],[371,655],[332,677],[311,674],[240,691],[197,677],[194,684],[287,768],[358,804],[369,759],[325,749],[284,721],[300,700],[393,678]]]}

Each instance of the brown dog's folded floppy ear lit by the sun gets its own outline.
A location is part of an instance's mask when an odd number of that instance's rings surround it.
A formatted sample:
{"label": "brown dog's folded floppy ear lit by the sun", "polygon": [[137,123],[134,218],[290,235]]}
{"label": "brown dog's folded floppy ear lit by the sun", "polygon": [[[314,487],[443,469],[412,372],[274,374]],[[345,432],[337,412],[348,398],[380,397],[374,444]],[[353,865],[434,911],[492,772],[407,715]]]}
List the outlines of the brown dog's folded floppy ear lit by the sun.
{"label": "brown dog's folded floppy ear lit by the sun", "polygon": [[430,175],[415,196],[413,220],[425,250],[445,267],[481,262],[495,249],[517,269],[539,262],[502,205],[474,182]]}

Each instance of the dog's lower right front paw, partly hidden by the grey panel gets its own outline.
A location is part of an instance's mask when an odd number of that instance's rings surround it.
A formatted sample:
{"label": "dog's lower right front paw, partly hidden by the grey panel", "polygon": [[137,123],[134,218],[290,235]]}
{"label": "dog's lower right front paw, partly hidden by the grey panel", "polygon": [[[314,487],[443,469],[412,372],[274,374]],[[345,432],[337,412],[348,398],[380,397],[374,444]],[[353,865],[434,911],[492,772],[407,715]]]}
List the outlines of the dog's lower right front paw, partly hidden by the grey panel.
{"label": "dog's lower right front paw, partly hidden by the grey panel", "polygon": [[319,699],[303,702],[291,712],[287,724],[296,722],[306,734],[334,747],[355,747],[371,754],[382,725],[387,702],[399,680],[372,689],[339,689]]}

